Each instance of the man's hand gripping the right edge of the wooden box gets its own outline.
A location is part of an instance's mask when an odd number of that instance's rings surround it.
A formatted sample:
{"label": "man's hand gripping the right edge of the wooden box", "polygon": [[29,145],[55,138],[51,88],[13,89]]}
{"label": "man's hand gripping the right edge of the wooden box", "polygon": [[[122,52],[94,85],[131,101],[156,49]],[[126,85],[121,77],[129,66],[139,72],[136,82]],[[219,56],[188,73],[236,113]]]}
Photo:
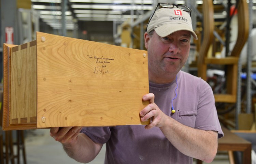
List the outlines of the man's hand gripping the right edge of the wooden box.
{"label": "man's hand gripping the right edge of the wooden box", "polygon": [[142,97],[143,101],[149,101],[144,109],[140,111],[141,121],[151,119],[151,123],[145,126],[145,129],[151,129],[154,126],[162,127],[165,125],[167,115],[163,113],[158,106],[154,103],[155,95],[153,93],[146,94]]}

